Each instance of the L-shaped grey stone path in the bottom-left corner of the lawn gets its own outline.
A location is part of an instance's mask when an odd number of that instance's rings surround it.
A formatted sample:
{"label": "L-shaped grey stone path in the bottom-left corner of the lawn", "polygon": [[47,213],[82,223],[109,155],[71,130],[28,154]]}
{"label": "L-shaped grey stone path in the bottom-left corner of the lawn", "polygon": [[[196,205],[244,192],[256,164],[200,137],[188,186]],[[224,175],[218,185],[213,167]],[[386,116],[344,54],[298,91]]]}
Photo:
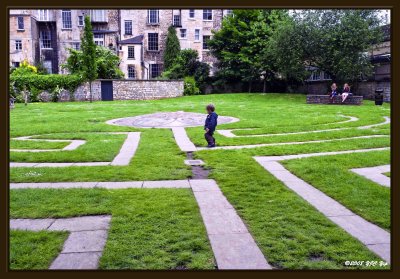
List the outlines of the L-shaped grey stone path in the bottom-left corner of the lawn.
{"label": "L-shaped grey stone path in the bottom-left corner of the lawn", "polygon": [[64,219],[11,219],[10,229],[70,232],[50,269],[97,269],[107,240],[111,216]]}

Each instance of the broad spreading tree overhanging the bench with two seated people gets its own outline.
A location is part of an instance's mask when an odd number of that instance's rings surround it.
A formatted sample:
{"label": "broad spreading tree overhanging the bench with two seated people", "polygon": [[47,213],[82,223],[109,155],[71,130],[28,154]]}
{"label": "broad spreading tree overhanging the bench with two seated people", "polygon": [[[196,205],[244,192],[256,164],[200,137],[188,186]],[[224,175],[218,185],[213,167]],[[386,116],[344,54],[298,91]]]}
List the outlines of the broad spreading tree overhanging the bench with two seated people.
{"label": "broad spreading tree overhanging the bench with two seated people", "polygon": [[305,10],[282,26],[274,51],[281,72],[302,77],[318,68],[335,82],[357,82],[372,73],[367,52],[381,41],[375,10]]}

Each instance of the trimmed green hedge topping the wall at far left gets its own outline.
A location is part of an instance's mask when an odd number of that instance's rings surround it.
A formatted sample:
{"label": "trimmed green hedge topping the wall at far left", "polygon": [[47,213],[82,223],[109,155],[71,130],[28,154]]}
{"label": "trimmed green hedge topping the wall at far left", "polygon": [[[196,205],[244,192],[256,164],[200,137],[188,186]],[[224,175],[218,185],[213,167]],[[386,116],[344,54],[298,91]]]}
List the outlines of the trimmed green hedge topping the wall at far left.
{"label": "trimmed green hedge topping the wall at far left", "polygon": [[52,92],[56,88],[63,88],[70,92],[75,91],[83,83],[78,75],[10,75],[10,83],[18,90],[42,90]]}

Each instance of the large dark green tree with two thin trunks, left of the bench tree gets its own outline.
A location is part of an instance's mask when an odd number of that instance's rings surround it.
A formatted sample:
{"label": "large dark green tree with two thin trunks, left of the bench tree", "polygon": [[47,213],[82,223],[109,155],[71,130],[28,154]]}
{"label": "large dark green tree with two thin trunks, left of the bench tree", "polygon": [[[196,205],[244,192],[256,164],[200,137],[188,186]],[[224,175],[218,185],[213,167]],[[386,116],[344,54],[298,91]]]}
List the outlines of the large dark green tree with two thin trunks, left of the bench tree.
{"label": "large dark green tree with two thin trunks, left of the bench tree", "polygon": [[218,76],[227,81],[268,80],[276,74],[274,57],[269,52],[271,37],[288,18],[285,10],[234,10],[208,42],[219,60]]}

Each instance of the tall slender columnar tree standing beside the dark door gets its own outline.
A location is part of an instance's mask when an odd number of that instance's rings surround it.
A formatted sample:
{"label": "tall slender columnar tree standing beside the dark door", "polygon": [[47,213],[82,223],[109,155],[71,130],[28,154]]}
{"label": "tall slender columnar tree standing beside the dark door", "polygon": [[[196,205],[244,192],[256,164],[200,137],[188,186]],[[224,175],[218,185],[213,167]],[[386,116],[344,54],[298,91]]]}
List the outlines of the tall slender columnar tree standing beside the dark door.
{"label": "tall slender columnar tree standing beside the dark door", "polygon": [[96,44],[93,39],[90,17],[85,16],[85,28],[82,37],[83,78],[89,82],[90,102],[92,102],[92,81],[97,78]]}

